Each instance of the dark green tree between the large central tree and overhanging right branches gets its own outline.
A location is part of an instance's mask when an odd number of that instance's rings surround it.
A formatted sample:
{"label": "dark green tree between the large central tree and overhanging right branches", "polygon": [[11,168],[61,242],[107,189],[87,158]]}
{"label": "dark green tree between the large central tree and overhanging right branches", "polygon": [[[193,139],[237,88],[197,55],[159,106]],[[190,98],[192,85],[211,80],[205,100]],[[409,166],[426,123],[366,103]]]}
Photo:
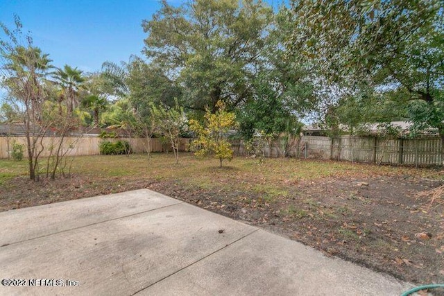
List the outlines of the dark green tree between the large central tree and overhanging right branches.
{"label": "dark green tree between the large central tree and overhanging right branches", "polygon": [[287,55],[284,47],[293,31],[291,11],[285,7],[273,16],[261,56],[266,63],[257,67],[252,79],[253,98],[238,110],[237,119],[244,138],[255,132],[277,137],[295,132],[299,119],[316,108],[318,98],[309,64]]}

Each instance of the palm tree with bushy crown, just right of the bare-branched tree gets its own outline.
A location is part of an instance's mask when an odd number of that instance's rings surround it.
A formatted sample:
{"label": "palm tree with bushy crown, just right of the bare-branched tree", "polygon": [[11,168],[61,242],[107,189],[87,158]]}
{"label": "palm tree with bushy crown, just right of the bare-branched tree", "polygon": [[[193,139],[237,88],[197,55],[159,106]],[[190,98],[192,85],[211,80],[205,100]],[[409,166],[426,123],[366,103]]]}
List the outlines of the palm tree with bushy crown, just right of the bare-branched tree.
{"label": "palm tree with bushy crown, just right of the bare-branched tree", "polygon": [[68,112],[73,112],[78,106],[78,93],[80,89],[83,89],[83,82],[85,82],[83,71],[78,70],[77,67],[72,68],[65,64],[63,69],[57,69],[56,75],[53,78],[58,81],[58,84],[65,92]]}

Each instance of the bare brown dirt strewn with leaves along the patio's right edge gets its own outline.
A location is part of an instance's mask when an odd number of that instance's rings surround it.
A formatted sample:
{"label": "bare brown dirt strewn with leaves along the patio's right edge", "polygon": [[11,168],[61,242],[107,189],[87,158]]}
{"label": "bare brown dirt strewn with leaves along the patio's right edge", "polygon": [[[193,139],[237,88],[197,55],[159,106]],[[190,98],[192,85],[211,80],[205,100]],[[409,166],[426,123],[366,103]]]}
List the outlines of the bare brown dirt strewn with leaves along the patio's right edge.
{"label": "bare brown dirt strewn with leaves along the patio's right edge", "polygon": [[148,186],[224,216],[266,228],[417,284],[444,282],[444,207],[417,194],[441,185],[421,178],[328,177],[294,184],[269,200],[260,193]]}

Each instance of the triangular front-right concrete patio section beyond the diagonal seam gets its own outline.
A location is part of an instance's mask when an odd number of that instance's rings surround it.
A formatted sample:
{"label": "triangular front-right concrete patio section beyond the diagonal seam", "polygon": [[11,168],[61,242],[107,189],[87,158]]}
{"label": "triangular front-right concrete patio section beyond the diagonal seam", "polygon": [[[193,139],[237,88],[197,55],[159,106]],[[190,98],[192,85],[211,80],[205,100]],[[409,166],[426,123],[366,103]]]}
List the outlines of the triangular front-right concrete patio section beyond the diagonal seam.
{"label": "triangular front-right concrete patio section beyond the diagonal seam", "polygon": [[259,230],[137,295],[400,295],[408,287]]}

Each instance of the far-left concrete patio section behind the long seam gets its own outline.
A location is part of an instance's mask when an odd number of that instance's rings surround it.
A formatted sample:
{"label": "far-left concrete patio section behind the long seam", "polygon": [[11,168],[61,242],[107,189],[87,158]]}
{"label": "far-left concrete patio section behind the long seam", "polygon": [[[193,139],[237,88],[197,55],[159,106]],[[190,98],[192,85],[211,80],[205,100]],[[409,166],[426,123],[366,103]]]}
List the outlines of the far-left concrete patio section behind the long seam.
{"label": "far-left concrete patio section behind the long seam", "polygon": [[154,191],[147,194],[146,189],[142,189],[4,211],[0,213],[0,225],[14,227],[1,229],[0,245],[26,241],[178,203],[179,200]]}

